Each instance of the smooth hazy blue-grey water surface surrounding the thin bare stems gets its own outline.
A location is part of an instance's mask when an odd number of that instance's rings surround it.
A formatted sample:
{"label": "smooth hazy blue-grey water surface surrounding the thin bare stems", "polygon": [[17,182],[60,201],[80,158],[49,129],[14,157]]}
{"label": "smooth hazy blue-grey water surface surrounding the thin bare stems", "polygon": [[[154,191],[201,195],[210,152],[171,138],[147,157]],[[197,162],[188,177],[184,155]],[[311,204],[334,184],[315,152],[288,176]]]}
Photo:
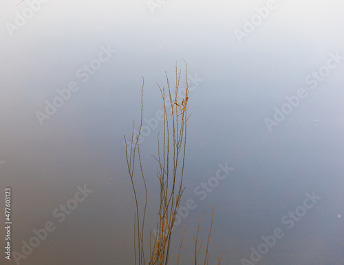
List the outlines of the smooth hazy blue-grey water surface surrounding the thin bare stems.
{"label": "smooth hazy blue-grey water surface surrounding the thin bare stems", "polygon": [[[200,233],[206,240],[211,204],[210,264],[224,250],[222,264],[241,264],[278,227],[285,236],[257,264],[344,264],[343,60],[315,89],[304,82],[330,52],[344,56],[342,1],[276,1],[241,43],[233,30],[243,30],[244,19],[267,1],[167,0],[153,14],[144,0],[47,1],[10,36],[6,23],[34,0],[18,2],[0,4],[0,220],[4,189],[12,187],[12,251],[21,252],[33,229],[56,225],[20,264],[134,264],[123,135],[140,118],[142,76],[144,117],[152,118],[162,109],[156,83],[166,86],[166,71],[174,85],[182,59],[190,76],[203,80],[190,94],[181,202],[193,199],[197,208],[175,226],[171,264],[184,226],[180,264],[191,264],[192,236],[207,209]],[[102,45],[116,53],[83,83],[76,72]],[[40,125],[36,112],[71,81],[80,89]],[[264,118],[300,87],[308,96],[269,132]],[[151,191],[147,229],[158,220],[157,164],[149,155],[157,153],[161,129],[159,123],[141,144]],[[200,200],[193,190],[225,162],[234,170]],[[52,212],[85,184],[93,192],[59,223]],[[321,200],[286,229],[281,217],[313,191]],[[4,229],[0,236],[3,249]]]}

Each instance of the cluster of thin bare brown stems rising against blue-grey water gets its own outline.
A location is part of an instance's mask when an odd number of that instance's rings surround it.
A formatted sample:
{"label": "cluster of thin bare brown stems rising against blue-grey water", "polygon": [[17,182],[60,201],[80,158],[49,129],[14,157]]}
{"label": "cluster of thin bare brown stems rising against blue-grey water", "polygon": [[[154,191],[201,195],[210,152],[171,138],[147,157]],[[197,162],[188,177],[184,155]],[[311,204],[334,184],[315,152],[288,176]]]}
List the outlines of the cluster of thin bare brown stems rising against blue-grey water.
{"label": "cluster of thin bare brown stems rising against blue-grey water", "polygon": [[[186,63],[185,63],[186,65]],[[166,72],[165,72],[166,73]],[[171,244],[171,235],[172,235],[172,228],[175,222],[175,217],[177,215],[178,207],[180,205],[180,199],[182,197],[182,193],[184,188],[182,187],[183,181],[183,173],[184,173],[184,162],[185,162],[185,149],[186,149],[186,122],[190,115],[187,115],[187,104],[189,100],[189,85],[186,81],[186,74],[187,74],[187,65],[185,70],[185,95],[182,98],[182,102],[180,103],[177,100],[178,89],[180,86],[180,74],[178,74],[177,64],[175,65],[175,93],[171,94],[171,87],[169,85],[169,78],[166,74],[166,81],[168,91],[166,92],[167,96],[169,96],[169,103],[171,105],[171,110],[169,113],[166,112],[166,103],[164,101],[165,98],[165,87],[160,89],[160,93],[162,96],[163,102],[163,109],[164,109],[164,126],[163,126],[163,136],[162,139],[159,139],[158,134],[158,156],[153,156],[155,160],[158,162],[158,171],[157,176],[160,182],[160,208],[158,211],[159,220],[156,224],[156,231],[158,231],[157,235],[154,237],[153,233],[151,232],[149,235],[149,265],[166,265],[169,262],[169,248]],[[143,78],[142,78],[143,79]],[[133,187],[133,194],[135,197],[136,202],[136,214],[134,218],[134,253],[135,253],[135,264],[143,265],[145,264],[145,257],[144,257],[144,220],[146,215],[147,209],[147,186],[144,180],[144,173],[142,171],[142,164],[141,164],[141,156],[140,156],[140,147],[138,144],[138,139],[140,137],[140,132],[142,128],[142,110],[143,110],[143,103],[142,103],[142,96],[143,96],[143,87],[144,87],[144,79],[142,82],[142,89],[141,89],[141,120],[140,120],[140,129],[138,130],[138,134],[134,136],[131,135],[131,145],[130,151],[128,149],[128,145],[125,148],[125,154],[127,157],[127,165],[129,176],[131,179],[131,184]],[[133,132],[135,130],[135,123],[133,124]],[[125,138],[125,142],[127,139]],[[181,152],[182,151],[182,152]],[[144,200],[144,209],[143,213],[140,214],[139,207],[138,207],[138,197],[136,194],[136,186],[133,180],[133,171],[135,165],[135,158],[136,153],[138,154],[138,162],[140,164],[140,174],[142,178],[142,182],[144,183],[145,189],[145,200]],[[173,158],[172,158],[173,156]],[[182,163],[182,165],[180,165]],[[203,213],[204,215],[204,213]],[[200,218],[200,223],[202,221],[202,217]],[[195,265],[197,265],[197,260],[200,255],[200,250],[202,248],[203,240],[198,247],[198,233],[200,230],[200,223],[198,224],[196,237],[193,237],[195,241],[195,260],[193,261]],[[212,213],[212,220],[211,220],[211,228],[213,226],[213,213]],[[209,238],[211,235],[211,228],[208,235],[208,240],[206,242],[206,253],[204,256],[204,264],[208,264],[208,244]],[[184,229],[185,235],[185,229]],[[182,242],[180,244],[179,252],[178,252],[178,264],[179,264],[179,257],[180,257],[180,250],[182,248],[182,243],[184,240],[184,235],[182,237]],[[224,253],[222,253],[224,255]],[[221,263],[221,258],[217,257],[218,264]],[[137,263],[138,262],[138,263]]]}

